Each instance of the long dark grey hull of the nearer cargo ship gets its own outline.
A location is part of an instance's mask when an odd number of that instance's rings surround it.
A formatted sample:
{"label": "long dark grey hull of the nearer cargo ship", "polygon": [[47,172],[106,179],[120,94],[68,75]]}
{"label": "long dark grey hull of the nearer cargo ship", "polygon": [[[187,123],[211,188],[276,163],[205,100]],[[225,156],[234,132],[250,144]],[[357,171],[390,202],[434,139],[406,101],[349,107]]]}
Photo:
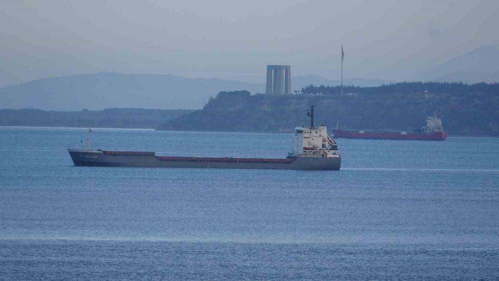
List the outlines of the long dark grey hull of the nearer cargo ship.
{"label": "long dark grey hull of the nearer cargo ship", "polygon": [[168,157],[154,152],[87,151],[68,149],[74,166],[157,167],[157,168],[218,168],[275,170],[339,170],[341,157],[218,158]]}

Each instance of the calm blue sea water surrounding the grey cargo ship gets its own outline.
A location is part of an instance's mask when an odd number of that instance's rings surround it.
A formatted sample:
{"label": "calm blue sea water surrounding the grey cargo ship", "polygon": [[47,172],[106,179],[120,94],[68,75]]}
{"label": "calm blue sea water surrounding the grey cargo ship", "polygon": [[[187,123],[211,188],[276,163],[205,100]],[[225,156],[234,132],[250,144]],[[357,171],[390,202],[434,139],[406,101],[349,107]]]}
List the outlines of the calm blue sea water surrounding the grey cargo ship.
{"label": "calm blue sea water surrounding the grey cargo ship", "polygon": [[[0,127],[0,279],[498,279],[499,139],[338,139],[341,171],[74,167]],[[289,134],[94,129],[93,147],[283,157]]]}

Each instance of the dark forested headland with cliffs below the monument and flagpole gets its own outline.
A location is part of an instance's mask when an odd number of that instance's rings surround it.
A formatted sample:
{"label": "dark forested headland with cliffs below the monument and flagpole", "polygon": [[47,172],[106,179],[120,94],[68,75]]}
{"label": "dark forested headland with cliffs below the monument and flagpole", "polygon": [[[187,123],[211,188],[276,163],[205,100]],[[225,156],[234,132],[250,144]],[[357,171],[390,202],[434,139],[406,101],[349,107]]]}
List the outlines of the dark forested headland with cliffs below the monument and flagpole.
{"label": "dark forested headland with cliffs below the monument and flagpole", "polygon": [[306,109],[316,105],[317,123],[330,128],[338,121],[347,128],[412,130],[437,114],[451,135],[499,136],[498,84],[398,83],[357,89],[354,95],[220,92],[202,110],[159,129],[289,132],[307,123]]}

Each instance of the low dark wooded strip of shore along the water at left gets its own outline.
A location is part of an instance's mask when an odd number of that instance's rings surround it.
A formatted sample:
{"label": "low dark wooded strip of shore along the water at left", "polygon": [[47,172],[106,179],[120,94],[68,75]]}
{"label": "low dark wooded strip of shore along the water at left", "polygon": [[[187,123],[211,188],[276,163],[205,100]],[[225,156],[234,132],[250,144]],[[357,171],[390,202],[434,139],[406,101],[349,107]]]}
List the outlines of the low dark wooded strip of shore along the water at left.
{"label": "low dark wooded strip of shore along the water at left", "polygon": [[157,128],[167,120],[193,110],[107,108],[103,110],[45,111],[0,109],[0,126],[57,126],[98,128]]}

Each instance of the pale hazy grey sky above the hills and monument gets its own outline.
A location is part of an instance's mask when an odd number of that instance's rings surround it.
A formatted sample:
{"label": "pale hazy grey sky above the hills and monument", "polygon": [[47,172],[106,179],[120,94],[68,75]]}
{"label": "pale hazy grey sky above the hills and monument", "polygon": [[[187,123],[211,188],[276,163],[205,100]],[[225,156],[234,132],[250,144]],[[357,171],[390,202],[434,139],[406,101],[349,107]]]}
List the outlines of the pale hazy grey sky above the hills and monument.
{"label": "pale hazy grey sky above the hills and monument", "polygon": [[0,86],[99,71],[264,82],[293,75],[412,79],[499,45],[499,0],[20,1],[0,6]]}

